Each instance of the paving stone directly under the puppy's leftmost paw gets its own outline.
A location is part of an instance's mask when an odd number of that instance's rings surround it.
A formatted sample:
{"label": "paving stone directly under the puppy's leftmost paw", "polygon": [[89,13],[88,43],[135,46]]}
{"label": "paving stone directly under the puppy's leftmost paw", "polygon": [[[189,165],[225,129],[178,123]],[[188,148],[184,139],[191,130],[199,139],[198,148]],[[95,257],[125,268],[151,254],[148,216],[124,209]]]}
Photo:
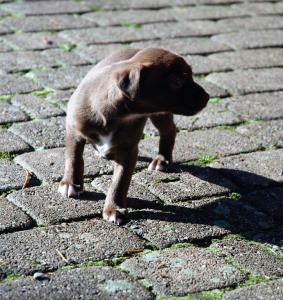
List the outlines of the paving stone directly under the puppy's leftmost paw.
{"label": "paving stone directly under the puppy's leftmost paw", "polygon": [[8,199],[43,225],[101,216],[105,196],[93,188],[88,186],[79,199],[63,197],[57,190],[58,184],[33,187],[9,194]]}

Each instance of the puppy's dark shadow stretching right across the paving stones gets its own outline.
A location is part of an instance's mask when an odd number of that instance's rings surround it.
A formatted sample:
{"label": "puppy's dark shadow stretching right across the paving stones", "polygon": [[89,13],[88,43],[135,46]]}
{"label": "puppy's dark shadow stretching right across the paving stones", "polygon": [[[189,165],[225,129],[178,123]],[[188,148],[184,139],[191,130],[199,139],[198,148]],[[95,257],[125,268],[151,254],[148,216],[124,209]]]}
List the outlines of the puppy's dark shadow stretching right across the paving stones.
{"label": "puppy's dark shadow stretching right across the paving stones", "polygon": [[[279,194],[283,194],[280,183],[264,176],[231,169],[214,169],[195,165],[174,165],[166,173],[188,172],[201,180],[216,184],[237,192],[236,198],[226,195],[214,196],[210,200],[194,199],[162,204],[139,198],[129,198],[128,206],[135,209],[129,214],[130,223],[144,220],[166,221],[174,223],[203,224],[220,226],[231,233],[249,236],[270,231],[282,225],[282,204]],[[215,176],[213,176],[215,174]],[[231,185],[232,183],[232,185]],[[278,188],[279,187],[279,188]],[[268,193],[270,197],[257,198],[251,196],[253,191]],[[238,198],[239,194],[241,197]],[[277,193],[277,194],[276,194]],[[276,196],[277,195],[277,196]],[[266,201],[270,203],[266,203]],[[268,239],[268,238],[266,238]]]}

